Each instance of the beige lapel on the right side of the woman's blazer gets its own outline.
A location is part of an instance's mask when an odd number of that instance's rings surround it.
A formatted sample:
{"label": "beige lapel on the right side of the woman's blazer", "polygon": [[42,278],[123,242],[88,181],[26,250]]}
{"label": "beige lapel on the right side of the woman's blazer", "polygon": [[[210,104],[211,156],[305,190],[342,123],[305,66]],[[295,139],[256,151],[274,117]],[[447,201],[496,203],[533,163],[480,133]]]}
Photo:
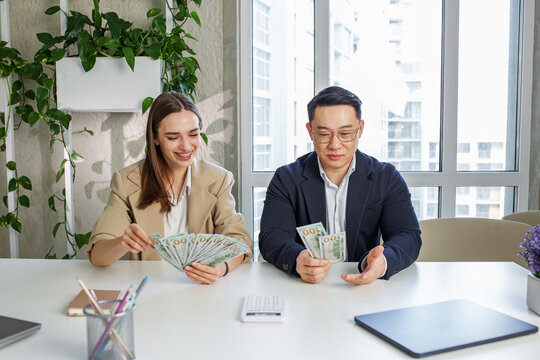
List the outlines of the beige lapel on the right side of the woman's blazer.
{"label": "beige lapel on the right side of the woman's blazer", "polygon": [[208,192],[209,178],[198,161],[191,164],[191,191],[188,197],[188,231],[192,233],[205,232],[204,224],[217,198]]}

